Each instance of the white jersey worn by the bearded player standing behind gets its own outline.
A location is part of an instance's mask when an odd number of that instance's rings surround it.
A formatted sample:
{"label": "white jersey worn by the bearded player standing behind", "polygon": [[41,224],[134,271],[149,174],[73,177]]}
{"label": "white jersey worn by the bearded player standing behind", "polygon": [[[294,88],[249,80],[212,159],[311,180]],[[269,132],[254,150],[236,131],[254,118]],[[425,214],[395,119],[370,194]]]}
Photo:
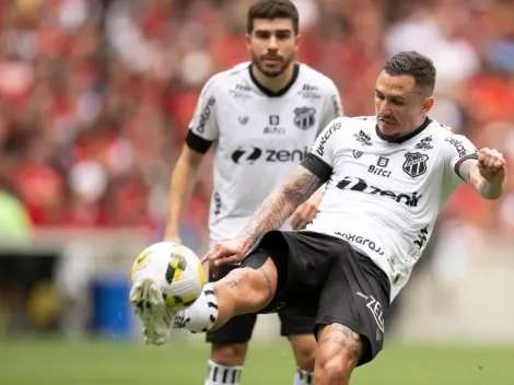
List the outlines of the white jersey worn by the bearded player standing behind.
{"label": "white jersey worn by the bearded player standing behind", "polygon": [[270,94],[250,66],[212,77],[189,125],[191,149],[206,152],[214,143],[211,242],[236,236],[307,156],[317,133],[342,115],[336,85],[311,67],[296,65],[290,84]]}

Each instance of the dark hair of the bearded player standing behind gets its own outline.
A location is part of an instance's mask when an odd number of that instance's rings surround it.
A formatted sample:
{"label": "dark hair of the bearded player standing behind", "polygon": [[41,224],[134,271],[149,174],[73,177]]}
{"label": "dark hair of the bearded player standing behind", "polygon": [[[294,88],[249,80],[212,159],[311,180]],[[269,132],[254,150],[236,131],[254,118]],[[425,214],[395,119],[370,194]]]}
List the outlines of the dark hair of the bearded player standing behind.
{"label": "dark hair of the bearded player standing behind", "polygon": [[299,34],[299,11],[290,0],[259,0],[248,10],[246,31],[252,35],[256,19],[289,19],[294,34]]}

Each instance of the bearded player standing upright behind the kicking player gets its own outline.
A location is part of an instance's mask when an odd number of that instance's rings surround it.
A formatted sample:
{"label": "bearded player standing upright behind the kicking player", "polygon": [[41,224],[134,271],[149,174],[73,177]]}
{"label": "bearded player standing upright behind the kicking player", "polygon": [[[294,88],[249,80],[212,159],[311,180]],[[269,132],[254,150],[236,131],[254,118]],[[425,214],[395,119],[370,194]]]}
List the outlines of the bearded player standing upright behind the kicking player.
{"label": "bearded player standing upright behind the kicking player", "polygon": [[[214,186],[209,230],[214,245],[242,231],[261,201],[307,156],[317,133],[342,113],[334,82],[294,60],[299,15],[292,2],[258,1],[247,20],[252,62],[214,75],[201,92],[172,176],[166,241],[180,242],[183,212],[212,143]],[[316,214],[320,195],[291,211],[291,220],[282,229],[303,229]],[[215,279],[237,268],[235,264],[223,266]],[[316,350],[314,314],[290,308],[279,316],[281,334],[289,337],[299,366],[294,385],[311,384]],[[212,352],[206,385],[240,383],[256,317],[241,315],[207,334]],[[166,320],[155,323],[144,325],[150,343],[160,343],[170,332]],[[152,332],[156,328],[162,335]]]}

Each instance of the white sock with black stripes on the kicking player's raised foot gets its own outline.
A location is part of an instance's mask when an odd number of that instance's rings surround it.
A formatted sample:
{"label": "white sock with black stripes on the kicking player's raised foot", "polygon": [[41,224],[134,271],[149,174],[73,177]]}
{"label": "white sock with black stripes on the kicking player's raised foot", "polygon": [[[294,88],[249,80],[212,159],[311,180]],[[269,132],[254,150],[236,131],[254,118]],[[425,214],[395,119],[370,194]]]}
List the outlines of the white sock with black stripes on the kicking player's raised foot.
{"label": "white sock with black stripes on the kicking player's raised foot", "polygon": [[188,308],[177,312],[174,328],[185,328],[191,332],[209,331],[218,319],[218,300],[212,283],[206,283],[198,300]]}

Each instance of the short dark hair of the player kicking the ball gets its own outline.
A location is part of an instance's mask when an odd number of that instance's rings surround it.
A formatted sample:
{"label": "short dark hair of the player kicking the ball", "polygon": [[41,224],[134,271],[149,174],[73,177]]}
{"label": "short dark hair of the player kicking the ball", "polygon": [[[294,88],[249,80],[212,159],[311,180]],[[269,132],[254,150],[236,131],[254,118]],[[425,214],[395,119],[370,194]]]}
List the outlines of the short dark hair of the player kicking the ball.
{"label": "short dark hair of the player kicking the ball", "polygon": [[435,86],[435,67],[430,58],[414,50],[395,55],[384,67],[390,75],[407,74],[414,78],[417,91],[431,96]]}

